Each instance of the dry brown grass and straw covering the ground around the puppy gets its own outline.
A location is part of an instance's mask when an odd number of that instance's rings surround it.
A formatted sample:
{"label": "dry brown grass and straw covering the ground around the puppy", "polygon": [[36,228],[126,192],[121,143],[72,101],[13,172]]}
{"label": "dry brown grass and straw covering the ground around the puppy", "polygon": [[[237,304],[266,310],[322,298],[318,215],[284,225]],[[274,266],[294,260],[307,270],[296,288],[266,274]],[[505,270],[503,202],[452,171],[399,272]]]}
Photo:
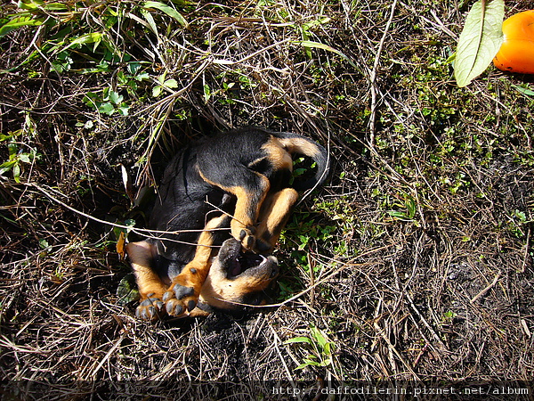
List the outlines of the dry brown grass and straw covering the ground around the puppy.
{"label": "dry brown grass and straw covering the ground around the puppy", "polygon": [[[82,75],[94,63],[79,58],[58,75],[28,60],[43,31],[0,39],[2,135],[20,130],[19,154],[40,155],[20,161],[20,183],[0,176],[0,370],[25,397],[40,381],[59,398],[174,397],[181,381],[223,381],[248,399],[261,391],[247,380],[532,379],[534,99],[515,88],[529,78],[490,69],[454,85],[457,2],[267,3],[191,6],[190,29],[159,13],[158,37],[122,22],[113,40],[152,77],[135,94],[117,81],[124,63]],[[103,21],[95,10],[84,18]],[[298,44],[303,30],[343,55]],[[176,86],[151,97],[163,71]],[[109,86],[128,116],[85,104]],[[281,305],[137,321],[117,302],[129,268],[95,220],[142,225],[119,163],[141,187],[182,143],[244,125],[309,135],[333,156],[331,183],[303,201],[280,245]],[[285,343],[312,327],[331,355]],[[313,352],[325,365],[295,370]],[[210,386],[191,395],[223,397]]]}

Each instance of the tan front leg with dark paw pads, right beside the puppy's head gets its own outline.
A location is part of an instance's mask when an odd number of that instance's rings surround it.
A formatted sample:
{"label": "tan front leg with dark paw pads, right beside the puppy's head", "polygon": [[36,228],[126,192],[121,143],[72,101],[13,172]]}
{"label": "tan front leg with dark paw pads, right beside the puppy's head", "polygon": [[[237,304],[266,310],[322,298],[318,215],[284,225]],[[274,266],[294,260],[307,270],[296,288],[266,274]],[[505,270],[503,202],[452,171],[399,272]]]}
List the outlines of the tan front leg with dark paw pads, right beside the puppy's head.
{"label": "tan front leg with dark paw pads, right beside the puppy's head", "polygon": [[214,230],[228,224],[228,217],[214,217],[211,219],[198,237],[195,257],[182,273],[174,277],[170,287],[163,294],[166,313],[172,316],[186,316],[197,306],[198,295],[206,281],[211,263],[211,245],[214,242]]}

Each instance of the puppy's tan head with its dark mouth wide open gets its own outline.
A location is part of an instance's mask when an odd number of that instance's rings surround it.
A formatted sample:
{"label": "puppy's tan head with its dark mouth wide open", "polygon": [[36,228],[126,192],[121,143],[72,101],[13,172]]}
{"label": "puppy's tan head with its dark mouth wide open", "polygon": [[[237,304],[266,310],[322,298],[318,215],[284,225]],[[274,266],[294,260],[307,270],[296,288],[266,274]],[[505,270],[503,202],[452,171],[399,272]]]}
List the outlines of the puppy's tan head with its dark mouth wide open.
{"label": "puppy's tan head with its dark mouth wide open", "polygon": [[230,238],[212,259],[200,292],[198,310],[191,315],[206,315],[213,309],[236,310],[247,305],[264,305],[269,299],[267,290],[278,274],[276,258],[244,252],[241,243]]}

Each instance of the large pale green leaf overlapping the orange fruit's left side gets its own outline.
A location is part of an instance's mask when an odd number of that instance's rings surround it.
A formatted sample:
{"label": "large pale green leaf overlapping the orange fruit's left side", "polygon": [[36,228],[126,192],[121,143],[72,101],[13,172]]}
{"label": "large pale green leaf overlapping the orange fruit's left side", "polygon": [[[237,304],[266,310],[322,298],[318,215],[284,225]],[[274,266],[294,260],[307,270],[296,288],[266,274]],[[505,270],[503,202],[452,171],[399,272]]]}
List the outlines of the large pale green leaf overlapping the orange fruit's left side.
{"label": "large pale green leaf overlapping the orange fruit's left side", "polygon": [[479,0],[465,18],[458,40],[454,75],[457,86],[464,87],[481,75],[503,43],[504,0]]}

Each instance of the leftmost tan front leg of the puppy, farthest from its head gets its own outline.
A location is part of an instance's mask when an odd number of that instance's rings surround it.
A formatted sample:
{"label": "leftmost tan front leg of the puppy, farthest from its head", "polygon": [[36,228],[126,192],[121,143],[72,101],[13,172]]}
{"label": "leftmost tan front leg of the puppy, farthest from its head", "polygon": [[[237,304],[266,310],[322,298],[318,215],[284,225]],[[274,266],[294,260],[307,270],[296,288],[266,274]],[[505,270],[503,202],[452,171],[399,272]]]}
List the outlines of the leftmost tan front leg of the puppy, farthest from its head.
{"label": "leftmost tan front leg of the puppy, farthest from its head", "polygon": [[130,242],[126,245],[126,253],[134,269],[141,295],[135,315],[142,320],[156,320],[164,315],[161,299],[166,286],[150,266],[155,252],[154,245],[149,241]]}

